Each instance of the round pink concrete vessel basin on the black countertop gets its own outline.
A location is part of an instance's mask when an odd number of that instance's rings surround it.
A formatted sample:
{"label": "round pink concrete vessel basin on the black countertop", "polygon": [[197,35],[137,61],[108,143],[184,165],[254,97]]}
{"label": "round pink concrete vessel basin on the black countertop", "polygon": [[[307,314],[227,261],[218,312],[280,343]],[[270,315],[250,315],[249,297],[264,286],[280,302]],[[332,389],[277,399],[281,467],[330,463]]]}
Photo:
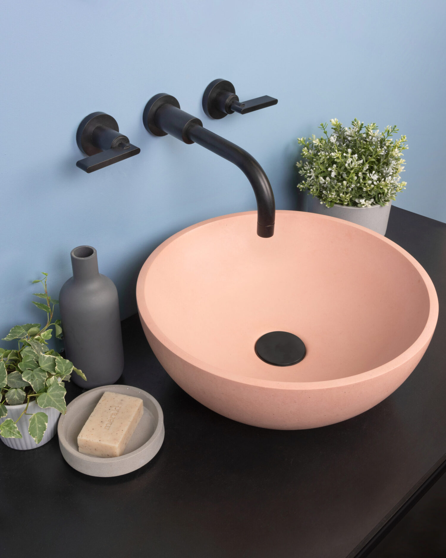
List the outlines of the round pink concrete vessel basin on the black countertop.
{"label": "round pink concrete vessel basin on the black countertop", "polygon": [[[137,301],[159,362],[187,393],[246,424],[306,429],[377,405],[413,371],[437,324],[423,267],[359,225],[277,211],[198,223],[163,242],[139,273]],[[288,331],[306,357],[263,362],[254,345]]]}

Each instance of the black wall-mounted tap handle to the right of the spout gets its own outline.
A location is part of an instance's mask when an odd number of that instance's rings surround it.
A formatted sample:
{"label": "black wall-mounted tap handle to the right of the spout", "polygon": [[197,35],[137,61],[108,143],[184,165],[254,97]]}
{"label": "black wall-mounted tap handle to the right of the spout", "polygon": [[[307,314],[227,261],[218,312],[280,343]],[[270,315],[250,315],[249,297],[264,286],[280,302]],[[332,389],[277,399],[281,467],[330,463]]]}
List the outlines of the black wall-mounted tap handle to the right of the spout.
{"label": "black wall-mounted tap handle to the right of the spout", "polygon": [[225,79],[215,79],[203,94],[203,110],[211,118],[224,118],[227,114],[238,112],[247,114],[261,108],[272,107],[277,99],[264,95],[249,101],[240,102],[235,94],[234,85]]}

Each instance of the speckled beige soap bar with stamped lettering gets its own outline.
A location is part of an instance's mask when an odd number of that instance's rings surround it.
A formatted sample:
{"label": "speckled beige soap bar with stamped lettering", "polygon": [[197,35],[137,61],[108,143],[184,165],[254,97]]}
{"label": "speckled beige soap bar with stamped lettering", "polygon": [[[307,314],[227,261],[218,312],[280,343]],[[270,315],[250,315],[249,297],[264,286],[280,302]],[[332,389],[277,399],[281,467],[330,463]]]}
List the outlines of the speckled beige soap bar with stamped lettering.
{"label": "speckled beige soap bar with stamped lettering", "polygon": [[96,457],[122,455],[143,410],[139,397],[105,391],[77,436],[80,453]]}

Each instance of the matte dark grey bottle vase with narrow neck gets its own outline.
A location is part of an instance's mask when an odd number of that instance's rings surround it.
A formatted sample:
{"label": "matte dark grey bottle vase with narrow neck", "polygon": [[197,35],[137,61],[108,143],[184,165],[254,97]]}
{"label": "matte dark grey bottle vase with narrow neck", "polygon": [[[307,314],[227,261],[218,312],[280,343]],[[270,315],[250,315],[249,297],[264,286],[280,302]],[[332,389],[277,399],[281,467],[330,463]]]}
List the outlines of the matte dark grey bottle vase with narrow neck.
{"label": "matte dark grey bottle vase with narrow neck", "polygon": [[71,251],[73,276],[59,295],[66,358],[84,372],[71,379],[93,388],[117,381],[124,368],[118,291],[111,279],[101,275],[98,254],[91,246]]}

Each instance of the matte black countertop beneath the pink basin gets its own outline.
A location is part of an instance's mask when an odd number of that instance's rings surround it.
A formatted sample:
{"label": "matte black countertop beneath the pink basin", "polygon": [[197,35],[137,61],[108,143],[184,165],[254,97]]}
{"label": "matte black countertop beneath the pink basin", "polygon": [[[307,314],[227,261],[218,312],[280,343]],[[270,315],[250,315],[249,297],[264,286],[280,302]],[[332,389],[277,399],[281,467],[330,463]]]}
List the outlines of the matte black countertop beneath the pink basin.
{"label": "matte black countertop beneath the pink basin", "polygon": [[[4,556],[365,556],[446,460],[446,224],[394,207],[387,237],[418,259],[440,302],[428,350],[390,397],[319,429],[246,426],[183,392],[132,316],[119,383],[161,403],[161,450],[134,473],[95,478],[65,463],[57,436],[30,451],[0,444]],[[67,401],[79,393],[70,384]]]}

